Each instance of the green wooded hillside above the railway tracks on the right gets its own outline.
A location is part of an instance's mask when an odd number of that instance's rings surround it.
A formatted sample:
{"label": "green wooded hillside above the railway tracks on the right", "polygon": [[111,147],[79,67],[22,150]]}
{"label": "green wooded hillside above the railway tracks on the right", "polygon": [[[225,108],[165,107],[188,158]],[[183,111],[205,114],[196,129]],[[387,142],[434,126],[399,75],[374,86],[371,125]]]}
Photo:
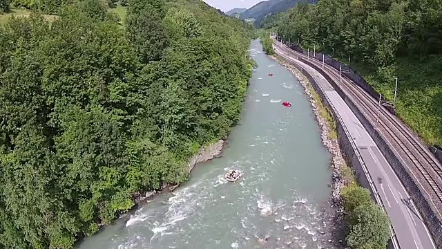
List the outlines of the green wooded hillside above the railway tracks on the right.
{"label": "green wooded hillside above the railway tracks on the right", "polygon": [[321,0],[265,20],[287,41],[348,62],[428,145],[442,145],[442,2]]}

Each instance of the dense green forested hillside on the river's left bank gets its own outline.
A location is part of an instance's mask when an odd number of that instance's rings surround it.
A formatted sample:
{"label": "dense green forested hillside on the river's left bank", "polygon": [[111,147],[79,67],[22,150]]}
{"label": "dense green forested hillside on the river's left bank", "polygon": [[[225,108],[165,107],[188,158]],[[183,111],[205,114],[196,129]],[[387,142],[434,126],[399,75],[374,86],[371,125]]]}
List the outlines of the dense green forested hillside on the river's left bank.
{"label": "dense green forested hillside on the river's left bank", "polygon": [[124,26],[107,2],[38,2],[58,17],[0,24],[0,248],[73,248],[186,180],[251,77],[253,31],[200,0],[128,1]]}

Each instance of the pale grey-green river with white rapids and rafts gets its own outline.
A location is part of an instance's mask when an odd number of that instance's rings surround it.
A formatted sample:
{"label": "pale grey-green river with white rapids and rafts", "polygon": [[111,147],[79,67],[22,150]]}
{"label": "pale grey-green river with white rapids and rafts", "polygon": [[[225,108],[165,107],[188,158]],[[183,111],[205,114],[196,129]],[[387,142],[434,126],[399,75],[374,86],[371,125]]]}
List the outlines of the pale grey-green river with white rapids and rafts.
{"label": "pale grey-green river with white rapids and rafts", "polygon": [[[309,98],[258,40],[250,53],[258,68],[223,157],[198,165],[175,192],[158,194],[77,248],[263,248],[262,237],[268,248],[327,247],[320,212],[330,196],[331,155]],[[228,169],[244,174],[229,183]]]}

